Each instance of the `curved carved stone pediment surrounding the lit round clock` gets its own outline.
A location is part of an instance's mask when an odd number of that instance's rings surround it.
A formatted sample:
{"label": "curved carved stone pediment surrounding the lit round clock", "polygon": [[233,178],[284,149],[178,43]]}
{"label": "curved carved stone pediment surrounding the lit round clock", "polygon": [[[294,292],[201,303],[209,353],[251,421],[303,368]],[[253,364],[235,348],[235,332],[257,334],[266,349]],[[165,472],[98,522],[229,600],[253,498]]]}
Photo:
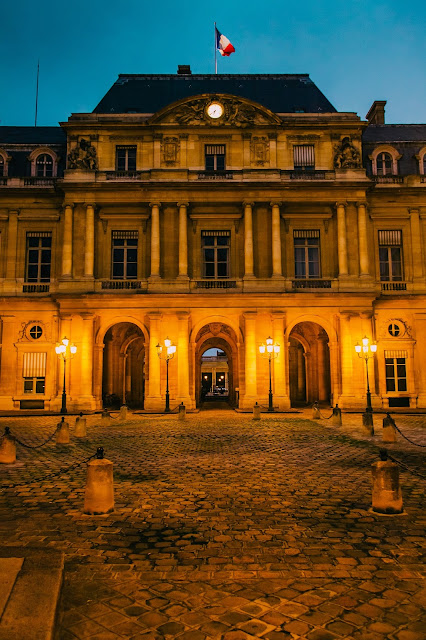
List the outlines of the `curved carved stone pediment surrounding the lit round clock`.
{"label": "curved carved stone pediment surrounding the lit round clock", "polygon": [[[223,114],[219,118],[208,115],[208,107],[219,103]],[[202,94],[184,98],[168,105],[150,118],[150,124],[177,124],[180,126],[253,127],[279,125],[275,113],[261,104],[223,93]]]}

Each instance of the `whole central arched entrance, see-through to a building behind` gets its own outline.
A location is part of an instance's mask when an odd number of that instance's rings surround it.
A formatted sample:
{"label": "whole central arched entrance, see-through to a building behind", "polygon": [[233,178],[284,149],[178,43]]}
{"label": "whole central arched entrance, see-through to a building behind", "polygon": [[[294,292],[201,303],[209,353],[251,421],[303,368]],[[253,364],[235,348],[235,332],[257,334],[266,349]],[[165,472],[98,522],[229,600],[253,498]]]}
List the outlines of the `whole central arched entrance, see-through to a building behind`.
{"label": "whole central arched entrance, see-through to a building behind", "polygon": [[195,398],[197,406],[205,400],[222,400],[237,405],[237,341],[225,324],[205,325],[196,336]]}

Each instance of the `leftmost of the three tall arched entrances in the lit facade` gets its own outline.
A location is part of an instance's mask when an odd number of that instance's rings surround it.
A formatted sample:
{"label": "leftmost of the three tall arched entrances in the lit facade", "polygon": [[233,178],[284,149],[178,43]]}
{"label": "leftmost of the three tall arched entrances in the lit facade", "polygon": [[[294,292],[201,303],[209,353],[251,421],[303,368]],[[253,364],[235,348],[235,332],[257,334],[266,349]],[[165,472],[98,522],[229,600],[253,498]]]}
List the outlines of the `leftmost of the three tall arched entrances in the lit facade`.
{"label": "leftmost of the three tall arched entrances in the lit facade", "polygon": [[145,395],[145,349],[141,329],[131,322],[119,322],[105,333],[102,400],[105,407],[125,402],[143,408]]}

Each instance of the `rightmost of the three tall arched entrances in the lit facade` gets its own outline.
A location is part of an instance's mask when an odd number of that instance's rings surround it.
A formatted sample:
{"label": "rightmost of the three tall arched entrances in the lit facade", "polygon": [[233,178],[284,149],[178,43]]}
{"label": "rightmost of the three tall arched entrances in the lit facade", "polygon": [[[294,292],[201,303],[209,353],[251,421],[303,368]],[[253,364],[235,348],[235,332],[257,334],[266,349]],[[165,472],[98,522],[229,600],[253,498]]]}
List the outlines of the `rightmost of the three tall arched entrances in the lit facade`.
{"label": "rightmost of the three tall arched entrances in the lit facade", "polygon": [[331,401],[327,332],[316,322],[299,322],[290,332],[289,379],[292,406]]}

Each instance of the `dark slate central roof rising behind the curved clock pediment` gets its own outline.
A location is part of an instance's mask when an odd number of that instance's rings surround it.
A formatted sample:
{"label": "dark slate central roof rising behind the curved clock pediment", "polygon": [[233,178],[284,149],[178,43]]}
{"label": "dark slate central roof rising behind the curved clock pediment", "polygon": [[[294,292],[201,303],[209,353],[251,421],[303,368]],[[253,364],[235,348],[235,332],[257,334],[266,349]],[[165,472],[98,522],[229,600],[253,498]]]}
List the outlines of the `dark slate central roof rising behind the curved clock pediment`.
{"label": "dark slate central roof rising behind the curved clock pediment", "polygon": [[93,113],[156,113],[177,100],[203,93],[248,98],[274,113],[336,112],[308,74],[120,74]]}

